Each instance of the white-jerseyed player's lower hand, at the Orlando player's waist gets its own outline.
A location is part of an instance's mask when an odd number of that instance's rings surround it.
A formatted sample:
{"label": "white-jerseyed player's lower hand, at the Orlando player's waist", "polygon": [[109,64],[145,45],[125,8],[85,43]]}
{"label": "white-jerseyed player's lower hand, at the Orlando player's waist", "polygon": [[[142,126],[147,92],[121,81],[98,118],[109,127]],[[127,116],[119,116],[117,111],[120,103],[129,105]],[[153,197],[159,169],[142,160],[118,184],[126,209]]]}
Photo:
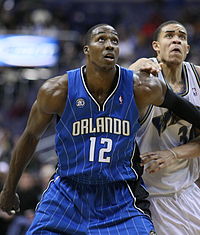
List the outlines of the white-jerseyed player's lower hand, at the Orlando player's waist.
{"label": "white-jerseyed player's lower hand, at the Orlando player's waist", "polygon": [[145,170],[150,174],[171,165],[176,160],[173,153],[169,150],[147,152],[141,154],[140,158],[141,166],[148,163],[148,167]]}

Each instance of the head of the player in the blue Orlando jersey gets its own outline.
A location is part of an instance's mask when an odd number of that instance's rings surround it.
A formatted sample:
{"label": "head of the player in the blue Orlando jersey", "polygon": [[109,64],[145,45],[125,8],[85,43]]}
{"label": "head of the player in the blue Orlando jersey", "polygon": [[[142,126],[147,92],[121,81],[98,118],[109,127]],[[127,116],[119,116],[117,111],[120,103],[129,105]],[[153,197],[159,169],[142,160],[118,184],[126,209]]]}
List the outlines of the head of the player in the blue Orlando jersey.
{"label": "head of the player in the blue Orlando jersey", "polygon": [[89,63],[102,68],[115,67],[119,56],[119,38],[111,26],[100,26],[93,30],[90,44],[87,47]]}

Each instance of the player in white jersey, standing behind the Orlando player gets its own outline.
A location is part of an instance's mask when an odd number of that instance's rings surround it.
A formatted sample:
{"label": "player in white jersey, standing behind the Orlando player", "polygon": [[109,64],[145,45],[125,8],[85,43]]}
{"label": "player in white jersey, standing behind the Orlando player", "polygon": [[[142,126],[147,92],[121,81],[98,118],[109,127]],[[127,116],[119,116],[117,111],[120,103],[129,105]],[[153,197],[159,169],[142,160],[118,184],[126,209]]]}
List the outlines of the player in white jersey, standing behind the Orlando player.
{"label": "player in white jersey, standing behind the Orlando player", "polygon": [[[177,21],[161,24],[152,46],[157,57],[142,58],[130,68],[155,70],[161,63],[158,79],[200,108],[200,67],[185,62],[189,52],[185,27]],[[199,235],[200,188],[195,184],[200,172],[199,130],[165,108],[150,105],[142,116],[137,141],[156,233]]]}

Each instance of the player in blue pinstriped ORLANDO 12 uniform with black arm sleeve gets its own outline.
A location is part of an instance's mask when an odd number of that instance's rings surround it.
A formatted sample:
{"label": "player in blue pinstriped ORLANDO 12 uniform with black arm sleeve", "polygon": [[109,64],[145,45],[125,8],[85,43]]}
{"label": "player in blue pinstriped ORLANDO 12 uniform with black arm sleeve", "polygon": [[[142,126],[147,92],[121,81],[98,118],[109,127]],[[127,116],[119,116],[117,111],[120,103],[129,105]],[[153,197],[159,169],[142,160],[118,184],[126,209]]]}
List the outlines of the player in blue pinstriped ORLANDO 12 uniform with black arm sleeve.
{"label": "player in blue pinstriped ORLANDO 12 uniform with black arm sleeve", "polygon": [[135,145],[139,113],[161,105],[198,126],[200,112],[162,81],[116,65],[119,37],[112,26],[91,28],[84,54],[85,66],[40,88],[13,150],[0,208],[19,210],[17,183],[57,115],[58,168],[27,234],[155,234]]}

